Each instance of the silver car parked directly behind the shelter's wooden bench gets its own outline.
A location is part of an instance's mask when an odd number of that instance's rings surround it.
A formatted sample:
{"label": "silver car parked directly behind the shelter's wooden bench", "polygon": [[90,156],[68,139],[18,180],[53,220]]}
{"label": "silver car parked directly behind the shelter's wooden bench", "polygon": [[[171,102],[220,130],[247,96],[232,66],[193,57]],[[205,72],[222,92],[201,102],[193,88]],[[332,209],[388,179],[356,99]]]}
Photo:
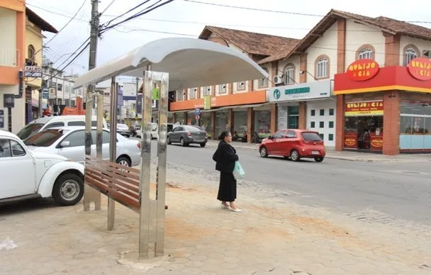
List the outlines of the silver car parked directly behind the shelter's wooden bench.
{"label": "silver car parked directly behind the shelter's wooden bench", "polygon": [[[109,159],[109,142],[111,136],[108,129],[102,133],[102,158]],[[85,128],[62,127],[44,130],[24,140],[31,152],[47,152],[58,154],[74,162],[85,162]],[[140,142],[128,140],[117,134],[116,162],[133,167],[140,164]],[[91,130],[91,155],[96,156],[96,129]]]}

